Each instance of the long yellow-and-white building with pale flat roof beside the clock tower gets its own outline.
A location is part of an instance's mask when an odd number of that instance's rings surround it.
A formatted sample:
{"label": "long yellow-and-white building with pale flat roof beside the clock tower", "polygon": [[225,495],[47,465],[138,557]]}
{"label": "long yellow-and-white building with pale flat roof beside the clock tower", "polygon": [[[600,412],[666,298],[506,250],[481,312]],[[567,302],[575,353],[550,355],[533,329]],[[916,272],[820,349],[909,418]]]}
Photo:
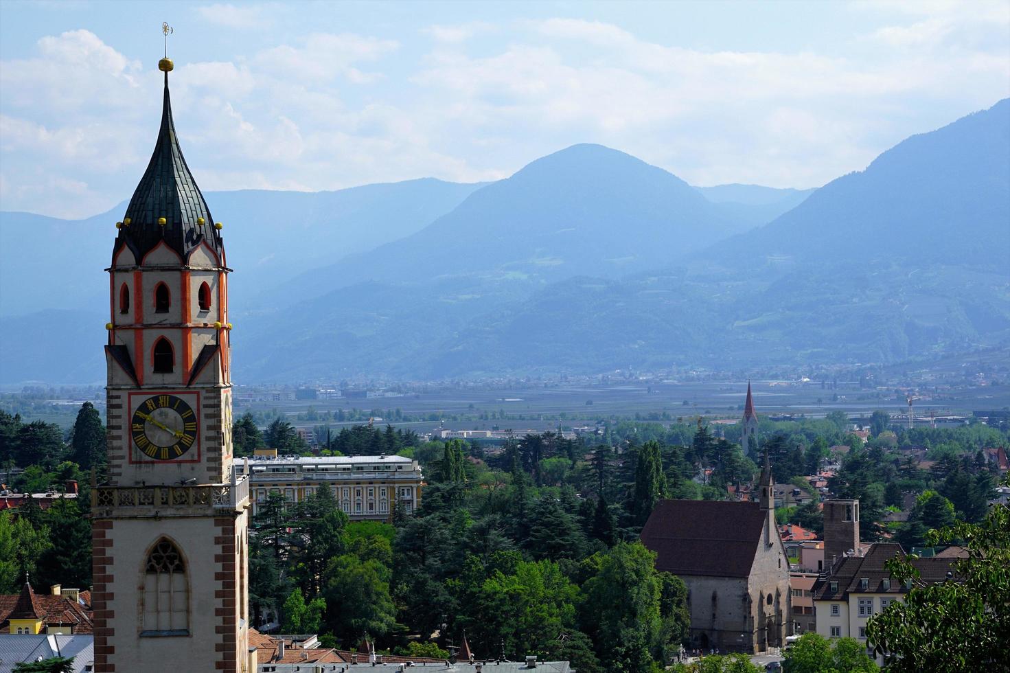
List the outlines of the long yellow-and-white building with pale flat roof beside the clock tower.
{"label": "long yellow-and-white building with pale flat roof beside the clock tower", "polygon": [[396,507],[410,513],[421,500],[421,468],[403,456],[258,456],[236,471],[250,475],[254,514],[272,491],[301,502],[322,486],[351,519],[392,520]]}

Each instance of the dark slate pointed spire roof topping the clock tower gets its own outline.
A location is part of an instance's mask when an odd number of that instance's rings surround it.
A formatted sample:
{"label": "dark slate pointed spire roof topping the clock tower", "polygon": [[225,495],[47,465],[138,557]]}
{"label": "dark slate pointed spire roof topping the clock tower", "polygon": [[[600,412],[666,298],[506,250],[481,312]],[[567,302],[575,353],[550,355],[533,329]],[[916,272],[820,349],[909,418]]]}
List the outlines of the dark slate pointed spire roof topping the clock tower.
{"label": "dark slate pointed spire roof topping the clock tower", "polygon": [[[165,217],[166,224],[158,223]],[[127,219],[128,218],[128,219]],[[203,223],[199,222],[203,218]],[[126,224],[126,222],[129,224]],[[123,226],[119,229],[116,249],[125,243],[137,261],[164,239],[172,250],[187,260],[189,253],[206,241],[221,256],[220,232],[214,228],[210,208],[197,187],[193,174],[186,166],[183,152],[172,121],[169,99],[169,74],[165,73],[165,101],[162,106],[162,127],[150,156],[147,170],[129,200]]]}

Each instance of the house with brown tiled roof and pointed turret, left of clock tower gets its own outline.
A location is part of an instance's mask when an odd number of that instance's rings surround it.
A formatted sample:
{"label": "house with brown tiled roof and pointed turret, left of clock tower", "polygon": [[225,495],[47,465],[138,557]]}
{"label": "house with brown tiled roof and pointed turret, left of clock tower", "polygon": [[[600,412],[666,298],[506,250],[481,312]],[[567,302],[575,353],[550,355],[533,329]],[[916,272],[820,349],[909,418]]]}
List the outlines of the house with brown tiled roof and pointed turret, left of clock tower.
{"label": "house with brown tiled roof and pointed turret, left of clock tower", "polygon": [[59,584],[49,593],[35,593],[27,581],[20,593],[0,595],[0,635],[77,636],[93,633],[91,594],[64,589]]}

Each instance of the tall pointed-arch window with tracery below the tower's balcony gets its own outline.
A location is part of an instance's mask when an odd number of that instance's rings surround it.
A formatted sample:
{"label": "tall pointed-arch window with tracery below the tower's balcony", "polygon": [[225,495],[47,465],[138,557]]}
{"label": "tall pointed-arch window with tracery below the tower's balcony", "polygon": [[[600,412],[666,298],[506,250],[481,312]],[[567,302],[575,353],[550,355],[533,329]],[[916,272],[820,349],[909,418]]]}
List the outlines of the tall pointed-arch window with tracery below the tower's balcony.
{"label": "tall pointed-arch window with tracery below the tower's balcony", "polygon": [[158,541],[147,555],[143,572],[145,636],[189,633],[189,584],[182,554],[168,540]]}

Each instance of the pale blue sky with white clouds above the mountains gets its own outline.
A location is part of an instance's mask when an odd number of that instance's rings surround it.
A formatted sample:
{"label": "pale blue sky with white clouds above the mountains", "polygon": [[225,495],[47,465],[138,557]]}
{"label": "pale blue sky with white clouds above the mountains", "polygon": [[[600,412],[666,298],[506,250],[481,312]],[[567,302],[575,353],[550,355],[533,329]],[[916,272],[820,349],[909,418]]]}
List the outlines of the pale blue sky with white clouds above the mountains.
{"label": "pale blue sky with white clouds above the mountains", "polygon": [[507,177],[599,142],[817,187],[1010,96],[1010,2],[0,2],[0,210],[129,198],[173,112],[204,191]]}

